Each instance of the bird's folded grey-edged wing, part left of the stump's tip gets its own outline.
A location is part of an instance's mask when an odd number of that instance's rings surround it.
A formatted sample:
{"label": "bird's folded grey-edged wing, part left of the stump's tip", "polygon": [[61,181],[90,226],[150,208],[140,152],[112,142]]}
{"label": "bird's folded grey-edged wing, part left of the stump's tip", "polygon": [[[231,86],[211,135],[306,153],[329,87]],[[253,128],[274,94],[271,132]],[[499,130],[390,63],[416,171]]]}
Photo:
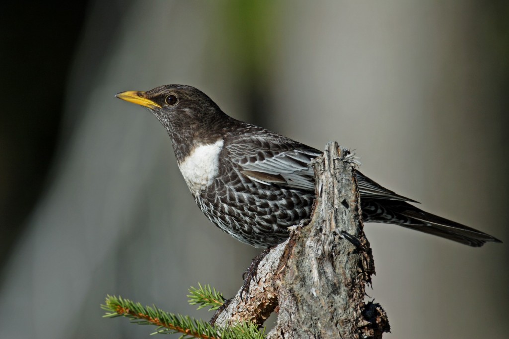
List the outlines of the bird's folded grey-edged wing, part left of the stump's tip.
{"label": "bird's folded grey-edged wing, part left of the stump's tip", "polygon": [[[274,140],[272,140],[274,139]],[[241,175],[264,184],[314,191],[309,162],[322,152],[278,135],[250,136],[225,146]]]}

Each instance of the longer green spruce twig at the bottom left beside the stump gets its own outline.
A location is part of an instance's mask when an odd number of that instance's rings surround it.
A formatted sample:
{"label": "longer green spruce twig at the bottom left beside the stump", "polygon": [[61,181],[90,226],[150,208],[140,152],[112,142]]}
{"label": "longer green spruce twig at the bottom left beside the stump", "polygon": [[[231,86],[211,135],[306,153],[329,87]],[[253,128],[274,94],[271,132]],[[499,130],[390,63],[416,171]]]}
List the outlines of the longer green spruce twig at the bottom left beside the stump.
{"label": "longer green spruce twig at the bottom left beside the stump", "polygon": [[[215,292],[215,291],[214,291]],[[217,292],[216,292],[217,294]],[[183,316],[165,312],[155,305],[142,306],[139,302],[133,302],[122,297],[106,297],[106,302],[101,307],[106,310],[104,318],[126,317],[131,322],[139,325],[154,325],[156,331],[152,334],[170,334],[182,333],[181,338],[199,338],[199,339],[263,339],[264,333],[258,330],[258,326],[252,323],[241,322],[222,328],[212,326],[201,319],[194,319],[189,316]]]}

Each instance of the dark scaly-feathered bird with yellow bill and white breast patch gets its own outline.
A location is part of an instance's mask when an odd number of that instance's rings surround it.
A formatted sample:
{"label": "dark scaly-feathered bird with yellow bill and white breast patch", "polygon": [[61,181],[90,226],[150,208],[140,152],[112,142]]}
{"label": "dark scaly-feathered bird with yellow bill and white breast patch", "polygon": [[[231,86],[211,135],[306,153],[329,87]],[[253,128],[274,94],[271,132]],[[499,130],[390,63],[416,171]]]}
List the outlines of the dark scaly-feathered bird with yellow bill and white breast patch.
{"label": "dark scaly-feathered bird with yellow bill and white breast patch", "polygon": [[[148,108],[172,140],[177,163],[196,204],[222,231],[270,248],[312,214],[316,199],[310,162],[322,154],[286,136],[236,120],[205,93],[183,84],[117,98]],[[391,223],[478,247],[499,239],[423,211],[414,200],[357,169],[364,222]]]}

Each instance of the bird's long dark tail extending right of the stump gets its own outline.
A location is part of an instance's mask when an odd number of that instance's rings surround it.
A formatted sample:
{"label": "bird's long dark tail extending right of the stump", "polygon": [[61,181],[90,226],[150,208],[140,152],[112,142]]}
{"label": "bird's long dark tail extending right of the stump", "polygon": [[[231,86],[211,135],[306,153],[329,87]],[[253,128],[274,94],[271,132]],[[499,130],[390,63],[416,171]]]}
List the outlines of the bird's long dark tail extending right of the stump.
{"label": "bird's long dark tail extending right of the stump", "polygon": [[501,242],[497,238],[418,209],[408,203],[387,200],[362,201],[365,221],[394,223],[412,230],[433,234],[470,246],[482,246],[487,241]]}

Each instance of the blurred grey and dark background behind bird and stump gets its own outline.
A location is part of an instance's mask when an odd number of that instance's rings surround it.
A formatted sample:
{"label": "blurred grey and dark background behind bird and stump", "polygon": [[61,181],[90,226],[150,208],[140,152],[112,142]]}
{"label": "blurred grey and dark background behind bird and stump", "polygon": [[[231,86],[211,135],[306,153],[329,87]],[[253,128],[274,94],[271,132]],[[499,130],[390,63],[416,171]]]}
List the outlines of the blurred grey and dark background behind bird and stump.
{"label": "blurred grey and dark background behind bird and stump", "polygon": [[209,319],[188,287],[240,287],[259,251],[206,220],[164,129],[114,98],[165,83],[319,149],[337,140],[380,184],[503,240],[366,225],[385,338],[506,335],[507,2],[77,0],[0,15],[1,338],[148,337],[102,319],[105,295]]}

